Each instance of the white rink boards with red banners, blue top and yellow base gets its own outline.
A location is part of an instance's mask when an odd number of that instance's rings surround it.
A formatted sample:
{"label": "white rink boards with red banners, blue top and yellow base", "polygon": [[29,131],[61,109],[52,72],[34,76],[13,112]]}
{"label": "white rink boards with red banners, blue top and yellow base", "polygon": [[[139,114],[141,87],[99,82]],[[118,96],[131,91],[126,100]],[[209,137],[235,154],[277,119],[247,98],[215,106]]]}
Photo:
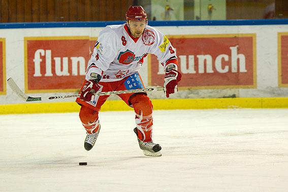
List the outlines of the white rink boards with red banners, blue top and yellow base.
{"label": "white rink boards with red banners, blue top and yellow base", "polygon": [[[0,24],[0,113],[79,110],[73,100],[24,104],[6,81],[12,77],[31,97],[78,93],[99,32],[122,23]],[[288,108],[288,19],[149,24],[173,44],[182,73],[172,100],[149,93],[154,109]],[[140,74],[146,87],[163,86],[154,55],[145,57]],[[102,110],[130,108],[112,97]]]}

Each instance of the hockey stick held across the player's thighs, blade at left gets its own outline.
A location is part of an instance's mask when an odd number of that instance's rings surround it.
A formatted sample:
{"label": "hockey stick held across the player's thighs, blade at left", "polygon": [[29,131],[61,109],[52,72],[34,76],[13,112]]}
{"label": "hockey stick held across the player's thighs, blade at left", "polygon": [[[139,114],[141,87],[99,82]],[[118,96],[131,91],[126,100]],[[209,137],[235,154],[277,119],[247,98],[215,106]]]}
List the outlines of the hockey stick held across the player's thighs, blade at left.
{"label": "hockey stick held across the player's thighs, blade at left", "polygon": [[[51,101],[51,100],[62,100],[68,98],[79,98],[80,94],[69,94],[69,95],[61,95],[61,96],[50,96],[50,97],[30,97],[25,94],[15,83],[12,78],[7,80],[10,88],[18,95],[19,98],[23,99],[26,102],[35,102],[35,101]],[[135,93],[135,92],[150,92],[150,91],[159,91],[164,90],[164,87],[156,87],[156,88],[144,88],[144,89],[131,89],[131,90],[119,90],[119,91],[107,91],[107,92],[95,92],[94,95],[111,95],[111,94],[125,94],[125,93]]]}

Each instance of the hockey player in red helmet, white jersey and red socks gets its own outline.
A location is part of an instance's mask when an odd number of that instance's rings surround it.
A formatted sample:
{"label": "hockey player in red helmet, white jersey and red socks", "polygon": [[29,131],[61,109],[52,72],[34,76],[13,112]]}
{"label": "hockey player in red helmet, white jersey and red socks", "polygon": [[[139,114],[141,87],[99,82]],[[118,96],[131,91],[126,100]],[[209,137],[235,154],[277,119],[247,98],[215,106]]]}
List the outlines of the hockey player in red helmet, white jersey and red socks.
{"label": "hockey player in red helmet, white jersey and red socks", "polygon": [[[90,150],[101,126],[98,113],[109,95],[94,96],[93,92],[144,88],[139,69],[148,53],[161,61],[166,75],[166,97],[177,91],[181,74],[177,71],[177,56],[168,38],[147,25],[147,14],[141,6],[130,6],[126,23],[108,25],[95,43],[85,82],[76,102],[81,105],[79,117],[87,132],[84,148]],[[146,93],[126,93],[118,96],[136,113],[136,128],[140,148],[145,155],[161,156],[161,146],[152,141],[152,103]]]}

